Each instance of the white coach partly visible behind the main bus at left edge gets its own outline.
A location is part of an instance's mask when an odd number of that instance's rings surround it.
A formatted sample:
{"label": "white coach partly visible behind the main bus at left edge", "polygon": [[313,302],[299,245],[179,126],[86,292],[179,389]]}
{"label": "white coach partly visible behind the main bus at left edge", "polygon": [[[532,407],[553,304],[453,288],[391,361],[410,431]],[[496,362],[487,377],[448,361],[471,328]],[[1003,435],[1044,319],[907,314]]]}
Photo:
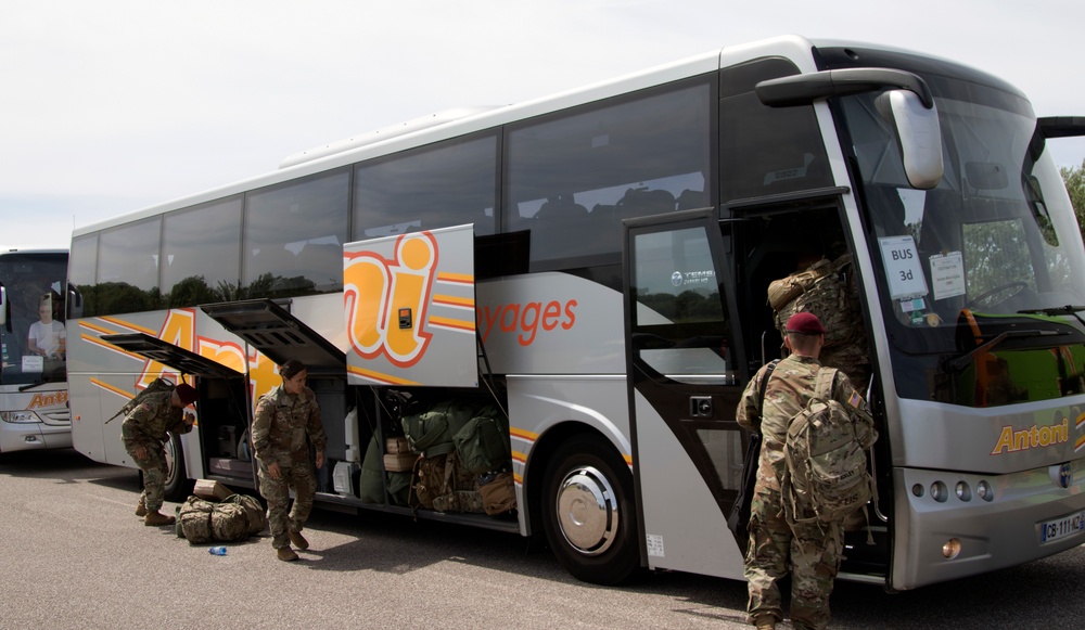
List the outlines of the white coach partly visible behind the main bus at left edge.
{"label": "white coach partly visible behind the main bus at left edge", "polygon": [[66,249],[0,252],[0,453],[72,446]]}

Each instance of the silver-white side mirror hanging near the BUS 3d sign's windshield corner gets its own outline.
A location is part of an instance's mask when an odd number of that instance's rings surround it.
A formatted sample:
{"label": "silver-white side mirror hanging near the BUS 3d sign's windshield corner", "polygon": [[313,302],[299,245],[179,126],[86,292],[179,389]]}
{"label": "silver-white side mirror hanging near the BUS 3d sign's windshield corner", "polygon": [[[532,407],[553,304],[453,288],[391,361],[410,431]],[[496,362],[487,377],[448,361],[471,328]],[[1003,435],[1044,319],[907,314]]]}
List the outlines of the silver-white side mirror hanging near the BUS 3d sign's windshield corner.
{"label": "silver-white side mirror hanging near the BUS 3d sign's windshield corner", "polygon": [[930,190],[942,181],[942,129],[939,111],[918,94],[890,90],[875,99],[878,113],[896,130],[901,162],[912,188]]}

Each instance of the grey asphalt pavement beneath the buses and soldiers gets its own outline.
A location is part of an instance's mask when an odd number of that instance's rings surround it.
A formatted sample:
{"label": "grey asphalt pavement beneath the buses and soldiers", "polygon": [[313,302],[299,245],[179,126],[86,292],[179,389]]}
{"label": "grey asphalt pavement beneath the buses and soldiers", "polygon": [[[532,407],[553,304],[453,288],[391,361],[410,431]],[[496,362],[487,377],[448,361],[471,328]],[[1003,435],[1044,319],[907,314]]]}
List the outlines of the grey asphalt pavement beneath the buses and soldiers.
{"label": "grey asphalt pavement beneath the buses and soldiers", "polygon": [[[138,499],[135,471],[73,450],[0,454],[0,628],[749,628],[732,580],[595,587],[515,535],[320,509],[299,562],[266,533],[216,556]],[[1081,584],[1081,547],[904,593],[838,583],[832,627],[1077,628]]]}

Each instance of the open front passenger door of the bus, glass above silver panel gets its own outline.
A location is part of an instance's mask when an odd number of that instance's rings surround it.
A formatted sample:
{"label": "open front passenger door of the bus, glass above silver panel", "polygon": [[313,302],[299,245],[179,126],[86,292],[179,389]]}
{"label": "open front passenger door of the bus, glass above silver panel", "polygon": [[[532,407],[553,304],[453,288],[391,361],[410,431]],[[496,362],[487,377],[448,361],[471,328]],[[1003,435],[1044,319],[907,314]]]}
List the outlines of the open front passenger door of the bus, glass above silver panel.
{"label": "open front passenger door of the bus, glass above silver panel", "polygon": [[[626,335],[634,473],[652,568],[742,577],[727,529],[745,439],[744,360],[714,210],[627,221]],[[732,326],[735,330],[732,330]]]}

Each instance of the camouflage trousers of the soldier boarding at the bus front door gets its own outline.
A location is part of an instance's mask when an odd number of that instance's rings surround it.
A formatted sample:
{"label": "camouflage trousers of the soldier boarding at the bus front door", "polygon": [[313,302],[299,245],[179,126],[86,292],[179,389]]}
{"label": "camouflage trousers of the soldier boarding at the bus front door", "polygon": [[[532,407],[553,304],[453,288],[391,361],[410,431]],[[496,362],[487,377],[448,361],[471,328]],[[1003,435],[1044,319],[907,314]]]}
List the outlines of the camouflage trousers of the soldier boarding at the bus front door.
{"label": "camouflage trousers of the soldier boarding at the bus front door", "polygon": [[777,582],[791,568],[791,623],[794,628],[826,628],[829,595],[840,569],[844,531],[840,523],[795,524],[783,516],[779,490],[761,486],[754,490],[750,511],[750,544],[745,578],[751,623],[770,615],[783,619]]}

